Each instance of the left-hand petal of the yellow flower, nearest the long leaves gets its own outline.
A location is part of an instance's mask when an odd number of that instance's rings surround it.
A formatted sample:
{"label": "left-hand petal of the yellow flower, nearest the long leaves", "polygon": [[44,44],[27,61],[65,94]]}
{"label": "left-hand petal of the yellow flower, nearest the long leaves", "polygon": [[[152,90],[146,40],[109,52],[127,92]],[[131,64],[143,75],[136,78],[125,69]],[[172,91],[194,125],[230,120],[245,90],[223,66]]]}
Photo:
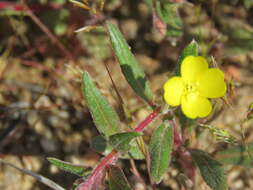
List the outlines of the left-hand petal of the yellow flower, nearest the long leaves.
{"label": "left-hand petal of the yellow flower, nearest the long leaves", "polygon": [[172,77],[163,86],[164,99],[171,106],[178,106],[181,103],[181,96],[184,90],[184,83],[181,77]]}

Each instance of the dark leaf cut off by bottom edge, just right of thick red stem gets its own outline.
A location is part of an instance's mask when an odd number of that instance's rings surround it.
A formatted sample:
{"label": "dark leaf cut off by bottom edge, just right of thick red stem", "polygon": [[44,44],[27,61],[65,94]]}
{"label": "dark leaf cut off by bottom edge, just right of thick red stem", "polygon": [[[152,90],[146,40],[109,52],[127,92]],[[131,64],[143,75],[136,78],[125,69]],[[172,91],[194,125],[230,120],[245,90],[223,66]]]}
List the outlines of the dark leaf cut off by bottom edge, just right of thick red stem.
{"label": "dark leaf cut off by bottom edge, just right of thick red stem", "polygon": [[108,166],[109,190],[131,190],[122,169],[115,165]]}

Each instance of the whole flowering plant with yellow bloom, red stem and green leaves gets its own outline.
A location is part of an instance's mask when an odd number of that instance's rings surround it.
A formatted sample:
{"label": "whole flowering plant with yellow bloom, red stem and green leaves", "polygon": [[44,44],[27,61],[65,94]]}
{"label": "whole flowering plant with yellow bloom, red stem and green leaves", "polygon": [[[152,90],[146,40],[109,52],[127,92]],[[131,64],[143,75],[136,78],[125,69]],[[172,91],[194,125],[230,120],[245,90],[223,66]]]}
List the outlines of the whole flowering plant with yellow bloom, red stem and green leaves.
{"label": "whole flowering plant with yellow bloom, red stem and green leaves", "polygon": [[[197,118],[207,117],[212,112],[210,99],[223,97],[226,93],[224,73],[218,68],[210,68],[207,60],[198,55],[197,43],[193,41],[183,50],[179,58],[176,76],[169,78],[164,85],[161,84],[161,88],[164,89],[164,101],[163,104],[158,104],[145,73],[118,27],[107,22],[105,28],[124,77],[153,111],[132,130],[123,131],[116,111],[102,96],[89,73],[84,72],[82,90],[86,104],[101,133],[101,138],[104,139],[103,142],[111,147],[111,152],[103,152],[106,156],[90,171],[85,180],[76,186],[76,189],[104,189],[106,188],[104,181],[108,182],[107,187],[111,190],[132,189],[123,170],[117,165],[117,161],[123,156],[133,160],[146,160],[151,186],[162,181],[174,158],[192,184],[198,167],[203,179],[212,189],[226,190],[226,175],[222,165],[208,153],[187,147],[185,137],[180,132],[180,127],[185,126],[177,122],[177,117],[197,121]],[[114,82],[113,84],[116,85]],[[121,100],[121,97],[119,99]],[[121,100],[121,103],[124,112],[124,100]],[[184,116],[174,109],[179,105]],[[150,141],[144,141],[143,130],[157,118],[161,119],[160,125],[153,131]],[[207,129],[215,131],[218,139],[224,142],[233,139],[226,131],[210,127]],[[224,134],[226,139],[222,138]],[[99,149],[101,142],[97,138],[96,142],[92,143],[93,148]],[[55,159],[50,158],[49,161],[54,165],[57,163],[57,167],[60,165]]]}

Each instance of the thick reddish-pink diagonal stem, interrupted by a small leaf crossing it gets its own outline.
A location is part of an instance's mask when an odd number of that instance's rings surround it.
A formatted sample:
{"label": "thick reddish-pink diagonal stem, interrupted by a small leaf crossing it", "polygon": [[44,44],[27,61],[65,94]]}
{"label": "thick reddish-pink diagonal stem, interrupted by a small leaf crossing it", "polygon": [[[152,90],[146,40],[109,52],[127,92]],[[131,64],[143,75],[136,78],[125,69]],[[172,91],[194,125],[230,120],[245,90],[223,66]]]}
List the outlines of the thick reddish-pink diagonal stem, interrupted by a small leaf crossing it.
{"label": "thick reddish-pink diagonal stem, interrupted by a small leaf crossing it", "polygon": [[[147,127],[160,113],[160,107],[155,109],[151,114],[149,114],[135,129],[135,132],[141,132]],[[102,161],[93,170],[92,174],[88,179],[81,184],[77,190],[90,190],[95,182],[96,176],[99,175],[109,164],[112,164],[117,160],[118,152],[113,150],[110,154],[102,159]]]}

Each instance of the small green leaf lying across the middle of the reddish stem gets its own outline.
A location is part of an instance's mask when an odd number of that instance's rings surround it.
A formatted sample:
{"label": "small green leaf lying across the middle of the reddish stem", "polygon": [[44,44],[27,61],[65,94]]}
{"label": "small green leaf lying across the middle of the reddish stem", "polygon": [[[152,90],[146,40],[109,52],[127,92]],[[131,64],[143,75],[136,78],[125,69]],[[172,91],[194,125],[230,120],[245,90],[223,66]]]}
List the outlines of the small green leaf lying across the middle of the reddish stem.
{"label": "small green leaf lying across the middle of the reddish stem", "polygon": [[130,149],[130,142],[141,136],[141,133],[137,132],[125,132],[118,133],[109,137],[109,143],[118,151],[126,152]]}

